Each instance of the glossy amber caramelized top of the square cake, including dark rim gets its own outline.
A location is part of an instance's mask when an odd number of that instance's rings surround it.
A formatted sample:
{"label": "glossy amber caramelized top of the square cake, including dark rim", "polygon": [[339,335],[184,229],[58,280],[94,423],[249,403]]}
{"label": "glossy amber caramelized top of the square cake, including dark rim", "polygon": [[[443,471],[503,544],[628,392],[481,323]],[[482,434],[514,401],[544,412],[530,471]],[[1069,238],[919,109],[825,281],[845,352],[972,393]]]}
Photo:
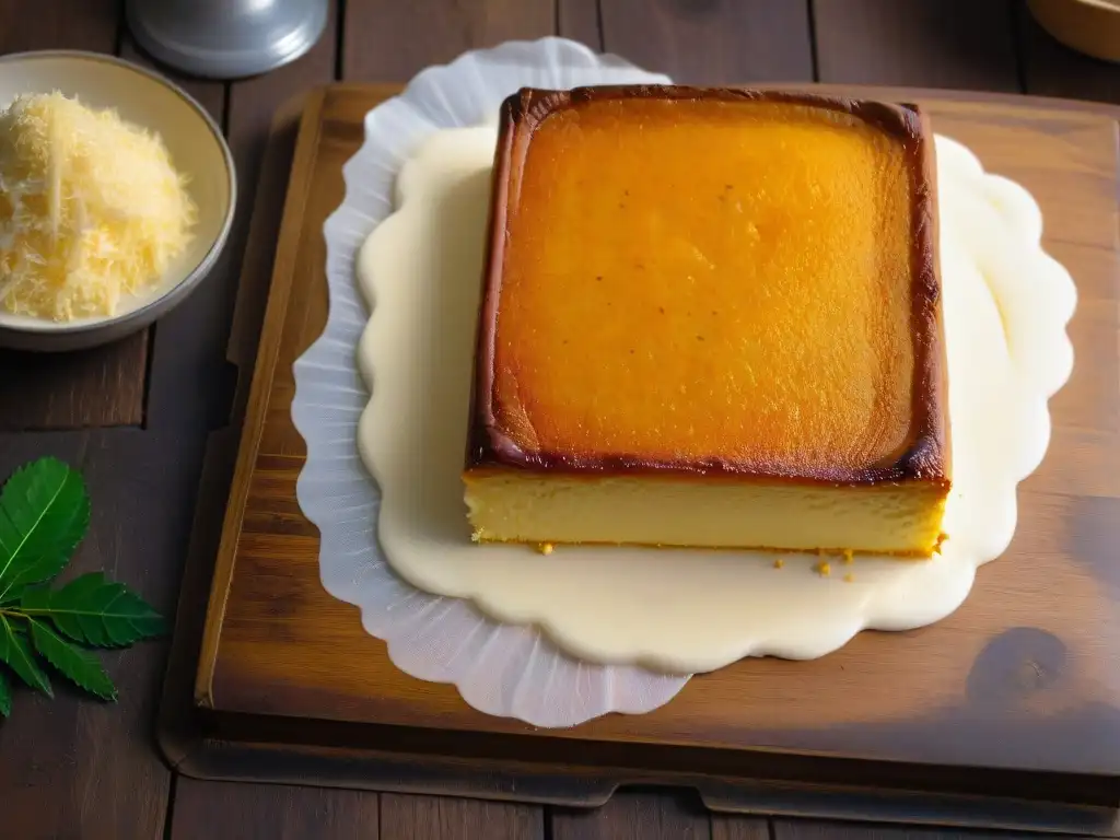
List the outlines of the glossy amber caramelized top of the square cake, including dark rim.
{"label": "glossy amber caramelized top of the square cake, including dark rim", "polygon": [[878,103],[511,97],[472,461],[944,479],[931,146]]}

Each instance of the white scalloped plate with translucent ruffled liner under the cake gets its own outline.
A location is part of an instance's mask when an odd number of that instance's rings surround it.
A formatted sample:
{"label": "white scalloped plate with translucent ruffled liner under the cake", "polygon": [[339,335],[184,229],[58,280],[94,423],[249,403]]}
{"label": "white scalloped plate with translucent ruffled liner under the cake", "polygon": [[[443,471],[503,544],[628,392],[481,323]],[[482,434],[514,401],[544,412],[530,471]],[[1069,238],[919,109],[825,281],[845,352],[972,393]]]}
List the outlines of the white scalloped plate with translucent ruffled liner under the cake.
{"label": "white scalloped plate with translucent ruffled liner under the cake", "polygon": [[[417,153],[413,177],[401,179],[401,212],[362,258],[374,308],[361,358],[374,390],[361,439],[379,493],[355,455],[367,394],[354,362],[366,312],[353,278],[363,239],[390,211],[394,176],[439,129],[493,122],[498,102],[523,84],[618,81],[656,80],[545,39],[426,71],[402,96],[372,111],[366,143],[345,170],[346,199],[326,225],[328,325],[296,364],[292,413],[308,442],[299,501],[323,533],[328,591],[362,608],[365,628],[389,642],[403,670],[454,682],[483,711],[539,726],[645,711],[687,679],[633,663],[685,672],[744,655],[812,657],[865,627],[909,628],[951,613],[976,567],[1010,540],[1015,485],[1045,451],[1046,399],[1072,367],[1064,326],[1075,296],[1068,276],[1039,249],[1036,205],[1009,181],[984,176],[962,147],[939,140],[956,461],[954,539],[942,557],[922,563],[860,558],[839,570],[853,575],[846,582],[842,573],[813,575],[815,558],[791,557],[775,570],[768,558],[747,552],[563,549],[541,557],[470,545],[458,458],[482,237],[437,236],[431,225],[469,232],[482,224],[493,133],[476,138],[476,151],[466,155],[449,151],[470,146],[465,134],[442,133]],[[454,213],[461,214],[455,225],[438,215],[449,190],[458,196]],[[437,324],[439,339],[426,340]],[[960,373],[961,360],[970,361],[968,375]],[[996,433],[1001,428],[1018,433]],[[440,450],[447,456],[432,457]],[[411,584],[441,595],[402,581],[386,554]]]}

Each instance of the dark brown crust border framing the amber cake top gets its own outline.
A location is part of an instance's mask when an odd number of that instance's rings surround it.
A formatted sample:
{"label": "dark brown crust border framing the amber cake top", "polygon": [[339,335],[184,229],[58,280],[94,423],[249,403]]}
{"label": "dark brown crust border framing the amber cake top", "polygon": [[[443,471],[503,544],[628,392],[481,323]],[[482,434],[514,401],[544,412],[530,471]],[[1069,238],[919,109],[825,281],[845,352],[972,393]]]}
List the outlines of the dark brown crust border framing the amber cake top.
{"label": "dark brown crust border framing the amber cake top", "polygon": [[[573,456],[566,452],[525,451],[502,428],[495,416],[495,340],[507,212],[520,193],[533,131],[550,114],[605,100],[668,99],[720,102],[778,102],[825,108],[851,114],[899,138],[906,149],[911,176],[911,227],[915,271],[912,319],[915,342],[913,442],[894,463],[860,469],[837,467],[812,473],[768,469],[764,463],[726,459],[651,460],[636,456]],[[945,379],[945,340],[942,319],[936,159],[927,115],[911,103],[887,103],[795,91],[689,87],[682,85],[612,85],[571,91],[522,88],[502,103],[489,209],[488,241],[483,270],[483,301],[478,312],[476,353],[470,391],[464,477],[529,470],[542,475],[568,474],[588,478],[606,475],[646,477],[708,477],[812,485],[881,485],[921,482],[948,491],[951,447],[949,389]]]}

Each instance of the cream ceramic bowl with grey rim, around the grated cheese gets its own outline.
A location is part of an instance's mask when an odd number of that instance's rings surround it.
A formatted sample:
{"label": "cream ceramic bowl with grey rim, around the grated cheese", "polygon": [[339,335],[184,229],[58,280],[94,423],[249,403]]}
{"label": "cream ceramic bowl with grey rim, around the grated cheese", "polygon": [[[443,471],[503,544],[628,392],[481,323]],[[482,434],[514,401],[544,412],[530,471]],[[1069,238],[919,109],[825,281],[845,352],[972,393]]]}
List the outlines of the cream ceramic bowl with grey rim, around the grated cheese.
{"label": "cream ceramic bowl with grey rim, around the grated cheese", "polygon": [[21,53],[0,58],[0,108],[21,93],[60,91],[93,108],[158,132],[187,177],[198,223],[186,251],[149,290],[121,298],[114,315],[50,320],[0,310],[0,346],[72,351],[123,338],[166,315],[197,288],[225,245],[236,205],[233,157],[221,129],[168,80],[129,62],[94,53]]}

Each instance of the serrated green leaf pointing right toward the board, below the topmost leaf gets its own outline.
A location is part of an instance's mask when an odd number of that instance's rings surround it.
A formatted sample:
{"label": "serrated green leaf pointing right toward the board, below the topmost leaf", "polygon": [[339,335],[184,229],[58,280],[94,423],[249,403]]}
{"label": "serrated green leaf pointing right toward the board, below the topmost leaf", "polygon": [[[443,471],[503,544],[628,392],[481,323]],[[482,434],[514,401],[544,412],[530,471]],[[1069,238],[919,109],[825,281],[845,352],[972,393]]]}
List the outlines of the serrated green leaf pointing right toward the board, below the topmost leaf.
{"label": "serrated green leaf pointing right toward the board, below the topmost leaf", "polygon": [[20,612],[49,618],[71,638],[99,647],[120,647],[167,632],[164,617],[123,584],[101,572],[83,575],[62,589],[28,588]]}

